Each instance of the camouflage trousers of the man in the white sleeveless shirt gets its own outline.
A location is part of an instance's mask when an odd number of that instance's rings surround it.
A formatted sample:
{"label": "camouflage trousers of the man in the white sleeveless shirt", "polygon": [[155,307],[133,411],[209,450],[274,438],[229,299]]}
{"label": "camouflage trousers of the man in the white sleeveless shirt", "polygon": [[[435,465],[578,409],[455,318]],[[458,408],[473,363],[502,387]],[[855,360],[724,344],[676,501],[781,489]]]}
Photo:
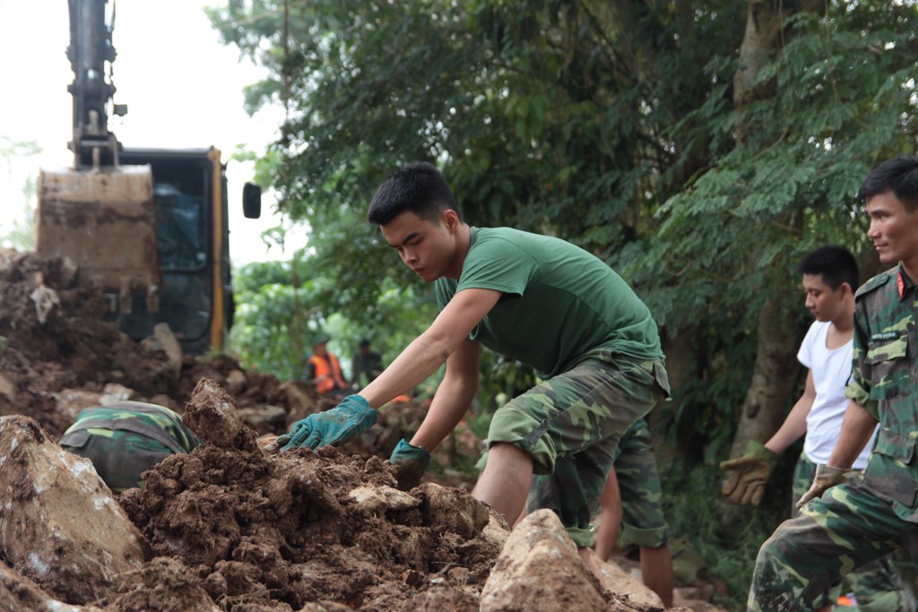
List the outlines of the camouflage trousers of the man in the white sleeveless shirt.
{"label": "camouflage trousers of the man in the white sleeveless shirt", "polygon": [[[816,464],[810,461],[805,454],[800,453],[800,459],[797,460],[797,465],[794,467],[793,499],[790,504],[792,516],[800,514],[794,504],[810,490],[815,475]],[[841,584],[835,584],[829,589],[827,595],[817,597],[813,607],[819,608],[837,602],[840,595],[848,599],[851,599],[853,595],[859,609],[875,610],[876,612],[887,610],[895,612],[904,609],[906,597],[891,555],[865,563],[846,574]]]}

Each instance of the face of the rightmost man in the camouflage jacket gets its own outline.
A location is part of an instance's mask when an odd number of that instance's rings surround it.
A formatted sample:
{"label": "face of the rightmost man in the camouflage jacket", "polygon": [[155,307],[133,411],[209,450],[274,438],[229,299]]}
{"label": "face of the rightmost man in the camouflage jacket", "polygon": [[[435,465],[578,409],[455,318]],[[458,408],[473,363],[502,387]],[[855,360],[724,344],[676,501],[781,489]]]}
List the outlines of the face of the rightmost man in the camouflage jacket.
{"label": "face of the rightmost man in the camouflage jacket", "polygon": [[918,257],[918,215],[909,212],[891,189],[868,198],[867,214],[867,235],[879,261],[896,263]]}

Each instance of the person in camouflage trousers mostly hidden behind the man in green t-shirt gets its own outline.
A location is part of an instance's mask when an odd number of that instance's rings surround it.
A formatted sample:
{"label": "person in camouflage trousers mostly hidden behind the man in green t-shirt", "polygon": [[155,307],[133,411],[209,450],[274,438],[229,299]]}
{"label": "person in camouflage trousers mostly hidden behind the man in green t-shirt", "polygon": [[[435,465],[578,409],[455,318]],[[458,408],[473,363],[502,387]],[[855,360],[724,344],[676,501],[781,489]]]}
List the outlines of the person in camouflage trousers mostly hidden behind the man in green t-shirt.
{"label": "person in camouflage trousers mostly hidden behind the man in green t-shirt", "polygon": [[673,606],[673,559],[669,552],[669,526],[663,517],[660,475],[647,421],[635,423],[621,437],[613,458],[609,481],[599,497],[599,529],[596,554],[609,561],[619,543],[640,550],[641,578],[660,596],[663,605]]}

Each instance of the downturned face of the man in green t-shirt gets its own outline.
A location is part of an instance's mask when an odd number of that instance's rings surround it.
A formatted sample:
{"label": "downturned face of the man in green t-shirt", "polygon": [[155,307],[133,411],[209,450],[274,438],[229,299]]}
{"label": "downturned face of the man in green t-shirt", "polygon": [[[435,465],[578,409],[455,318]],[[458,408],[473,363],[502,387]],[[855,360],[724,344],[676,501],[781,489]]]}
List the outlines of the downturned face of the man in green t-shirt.
{"label": "downturned face of the man in green t-shirt", "polygon": [[[452,211],[446,211],[438,222],[426,221],[412,212],[395,217],[380,231],[396,250],[411,272],[432,283],[452,275],[456,263],[455,223]],[[453,278],[458,278],[456,273]]]}

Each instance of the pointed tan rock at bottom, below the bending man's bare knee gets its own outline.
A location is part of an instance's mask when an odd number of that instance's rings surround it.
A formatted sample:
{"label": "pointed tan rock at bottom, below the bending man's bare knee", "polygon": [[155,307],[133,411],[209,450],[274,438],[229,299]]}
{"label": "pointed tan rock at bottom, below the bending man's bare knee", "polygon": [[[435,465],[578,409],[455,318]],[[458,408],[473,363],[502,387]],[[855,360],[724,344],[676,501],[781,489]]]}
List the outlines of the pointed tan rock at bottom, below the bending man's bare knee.
{"label": "pointed tan rock at bottom, below the bending man's bare knee", "polygon": [[599,582],[551,510],[537,510],[510,532],[485,588],[481,612],[609,609]]}

